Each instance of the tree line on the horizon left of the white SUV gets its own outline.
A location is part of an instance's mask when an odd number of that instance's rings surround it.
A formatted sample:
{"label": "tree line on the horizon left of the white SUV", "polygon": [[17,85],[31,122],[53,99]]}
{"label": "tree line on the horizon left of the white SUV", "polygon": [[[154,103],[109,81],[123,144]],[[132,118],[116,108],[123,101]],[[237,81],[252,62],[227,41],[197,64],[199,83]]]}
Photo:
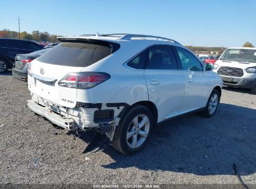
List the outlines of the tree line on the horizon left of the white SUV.
{"label": "tree line on the horizon left of the white SUV", "polygon": [[[37,42],[57,42],[57,37],[61,37],[61,35],[51,35],[48,32],[39,32],[38,30],[34,30],[29,34],[24,31],[21,32],[21,39],[24,40],[36,40]],[[0,38],[11,38],[11,39],[19,39],[19,32],[10,31],[9,29],[0,30]]]}

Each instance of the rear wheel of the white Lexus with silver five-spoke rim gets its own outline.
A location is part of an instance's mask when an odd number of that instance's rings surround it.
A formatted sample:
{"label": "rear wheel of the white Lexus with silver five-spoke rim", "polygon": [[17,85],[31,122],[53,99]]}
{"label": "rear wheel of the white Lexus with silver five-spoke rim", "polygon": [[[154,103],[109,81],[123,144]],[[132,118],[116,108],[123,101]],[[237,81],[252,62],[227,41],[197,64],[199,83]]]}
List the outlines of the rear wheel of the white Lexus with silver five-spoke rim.
{"label": "rear wheel of the white Lexus with silver five-spoke rim", "polygon": [[151,136],[154,117],[148,108],[136,105],[128,109],[116,126],[113,147],[126,155],[143,149]]}

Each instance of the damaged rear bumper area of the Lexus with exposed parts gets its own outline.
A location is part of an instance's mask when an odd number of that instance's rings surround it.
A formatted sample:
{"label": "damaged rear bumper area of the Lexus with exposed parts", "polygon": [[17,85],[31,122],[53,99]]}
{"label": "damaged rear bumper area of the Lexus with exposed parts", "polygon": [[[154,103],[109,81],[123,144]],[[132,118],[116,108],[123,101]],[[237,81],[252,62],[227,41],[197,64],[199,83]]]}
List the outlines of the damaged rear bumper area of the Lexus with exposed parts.
{"label": "damaged rear bumper area of the Lexus with exposed parts", "polygon": [[109,132],[118,125],[120,113],[127,107],[125,103],[100,103],[97,106],[80,103],[75,108],[67,108],[31,94],[32,99],[27,101],[31,111],[69,131],[96,129],[102,133]]}

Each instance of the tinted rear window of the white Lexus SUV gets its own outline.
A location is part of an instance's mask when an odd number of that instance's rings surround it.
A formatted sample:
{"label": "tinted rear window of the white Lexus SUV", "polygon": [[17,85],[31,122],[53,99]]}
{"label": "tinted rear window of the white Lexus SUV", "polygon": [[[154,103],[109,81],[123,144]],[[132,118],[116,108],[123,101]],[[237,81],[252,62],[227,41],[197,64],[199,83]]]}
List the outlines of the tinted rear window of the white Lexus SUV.
{"label": "tinted rear window of the white Lexus SUV", "polygon": [[42,54],[38,60],[54,65],[88,67],[115,52],[120,46],[110,42],[62,42]]}

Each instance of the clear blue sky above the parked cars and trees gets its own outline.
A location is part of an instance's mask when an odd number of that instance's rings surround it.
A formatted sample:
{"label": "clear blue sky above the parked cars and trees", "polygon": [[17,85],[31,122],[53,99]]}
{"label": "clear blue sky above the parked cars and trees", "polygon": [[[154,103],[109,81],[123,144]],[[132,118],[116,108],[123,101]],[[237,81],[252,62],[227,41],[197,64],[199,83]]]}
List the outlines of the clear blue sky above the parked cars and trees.
{"label": "clear blue sky above the parked cars and trees", "polygon": [[0,0],[0,30],[160,35],[183,45],[256,46],[255,0]]}

